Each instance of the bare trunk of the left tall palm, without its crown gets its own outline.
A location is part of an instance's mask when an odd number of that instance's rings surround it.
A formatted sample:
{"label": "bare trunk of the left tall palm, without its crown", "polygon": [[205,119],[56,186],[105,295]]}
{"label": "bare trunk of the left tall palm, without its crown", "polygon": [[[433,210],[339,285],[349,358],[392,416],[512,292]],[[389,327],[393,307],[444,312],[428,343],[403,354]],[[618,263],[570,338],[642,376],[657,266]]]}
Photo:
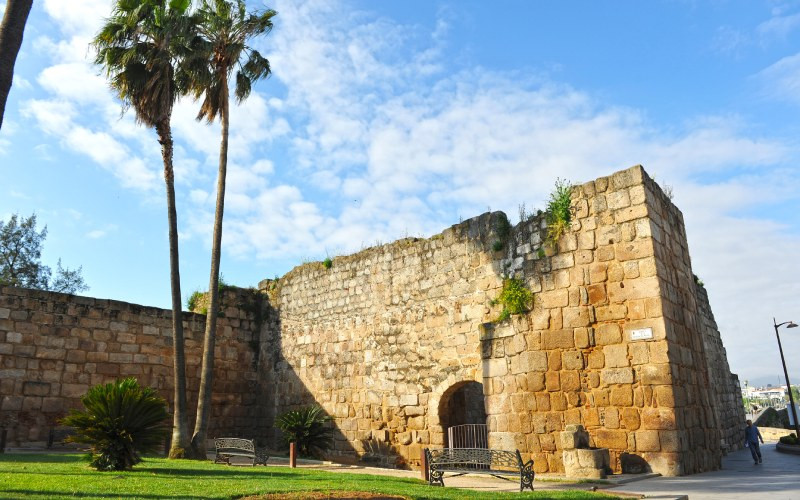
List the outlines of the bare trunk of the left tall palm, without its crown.
{"label": "bare trunk of the left tall palm, without its crown", "polygon": [[172,288],[172,349],[175,394],[172,419],[170,458],[183,458],[189,449],[189,418],[186,404],[186,357],[183,348],[183,312],[181,273],[178,259],[178,214],[175,208],[175,173],[172,169],[172,128],[169,119],[156,125],[161,157],[164,160],[164,182],[167,185],[167,219],[169,221],[169,276]]}

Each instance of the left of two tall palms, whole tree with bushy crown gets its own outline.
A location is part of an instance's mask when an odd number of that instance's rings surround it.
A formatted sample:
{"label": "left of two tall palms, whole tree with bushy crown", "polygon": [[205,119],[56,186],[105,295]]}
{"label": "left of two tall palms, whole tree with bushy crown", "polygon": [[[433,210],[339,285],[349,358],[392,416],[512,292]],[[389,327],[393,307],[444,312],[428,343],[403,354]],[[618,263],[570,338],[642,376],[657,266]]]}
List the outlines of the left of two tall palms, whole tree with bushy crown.
{"label": "left of two tall palms, whole tree with bushy crown", "polygon": [[155,129],[161,144],[167,187],[172,332],[174,351],[174,415],[170,457],[189,449],[186,373],[178,266],[178,220],[172,169],[172,108],[181,93],[180,64],[190,57],[196,19],[188,15],[190,0],[116,0],[111,17],[93,45],[95,62],[105,68],[124,109],[132,107],[136,121]]}

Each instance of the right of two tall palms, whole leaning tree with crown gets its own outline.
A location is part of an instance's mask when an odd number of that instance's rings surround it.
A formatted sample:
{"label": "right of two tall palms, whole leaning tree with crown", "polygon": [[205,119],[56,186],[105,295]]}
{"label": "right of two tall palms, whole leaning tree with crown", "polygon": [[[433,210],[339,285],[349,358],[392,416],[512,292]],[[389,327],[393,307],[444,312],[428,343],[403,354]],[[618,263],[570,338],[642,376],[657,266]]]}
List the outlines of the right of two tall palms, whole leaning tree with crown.
{"label": "right of two tall palms, whole leaning tree with crown", "polygon": [[207,67],[195,72],[191,82],[195,97],[203,97],[198,120],[209,123],[219,116],[222,122],[222,139],[219,148],[219,173],[217,177],[217,205],[214,214],[214,236],[211,248],[210,294],[206,333],[203,342],[203,365],[201,369],[200,394],[197,401],[192,448],[195,455],[205,456],[208,431],[211,390],[214,376],[214,343],[217,331],[219,308],[219,261],[222,242],[222,216],[225,207],[225,176],[228,168],[228,80],[236,70],[236,100],[243,101],[250,95],[253,82],[270,74],[269,61],[258,51],[247,45],[256,36],[272,30],[274,10],[247,13],[244,0],[203,0],[198,11],[201,19],[199,31],[208,46]]}

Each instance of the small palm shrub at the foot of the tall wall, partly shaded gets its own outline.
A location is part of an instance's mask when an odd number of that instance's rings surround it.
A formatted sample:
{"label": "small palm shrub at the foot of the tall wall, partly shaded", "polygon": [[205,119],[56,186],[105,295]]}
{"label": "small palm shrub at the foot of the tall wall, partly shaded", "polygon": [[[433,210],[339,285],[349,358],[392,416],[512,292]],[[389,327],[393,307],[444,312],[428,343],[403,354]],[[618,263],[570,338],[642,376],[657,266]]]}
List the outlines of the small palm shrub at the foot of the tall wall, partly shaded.
{"label": "small palm shrub at the foot of the tall wall, partly shaded", "polygon": [[318,405],[288,411],[276,425],[287,443],[297,443],[301,456],[319,455],[333,444],[333,429],[326,424],[331,417]]}

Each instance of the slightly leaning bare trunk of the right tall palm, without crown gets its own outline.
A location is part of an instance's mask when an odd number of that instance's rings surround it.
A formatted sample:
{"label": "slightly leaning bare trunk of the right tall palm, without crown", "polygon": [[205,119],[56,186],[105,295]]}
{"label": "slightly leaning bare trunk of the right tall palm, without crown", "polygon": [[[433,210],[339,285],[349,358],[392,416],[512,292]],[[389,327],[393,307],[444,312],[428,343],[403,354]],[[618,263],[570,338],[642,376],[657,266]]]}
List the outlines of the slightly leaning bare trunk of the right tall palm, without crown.
{"label": "slightly leaning bare trunk of the right tall palm, without crown", "polygon": [[197,419],[192,436],[192,450],[197,458],[206,456],[211,393],[214,383],[214,344],[217,336],[217,313],[219,310],[219,261],[222,247],[222,216],[225,211],[225,176],[228,170],[228,80],[222,73],[222,139],[219,147],[219,173],[217,174],[217,206],[214,213],[214,241],[211,247],[211,276],[208,280],[209,304],[206,316],[206,336],[203,341],[203,368],[200,379],[200,395],[197,398]]}

